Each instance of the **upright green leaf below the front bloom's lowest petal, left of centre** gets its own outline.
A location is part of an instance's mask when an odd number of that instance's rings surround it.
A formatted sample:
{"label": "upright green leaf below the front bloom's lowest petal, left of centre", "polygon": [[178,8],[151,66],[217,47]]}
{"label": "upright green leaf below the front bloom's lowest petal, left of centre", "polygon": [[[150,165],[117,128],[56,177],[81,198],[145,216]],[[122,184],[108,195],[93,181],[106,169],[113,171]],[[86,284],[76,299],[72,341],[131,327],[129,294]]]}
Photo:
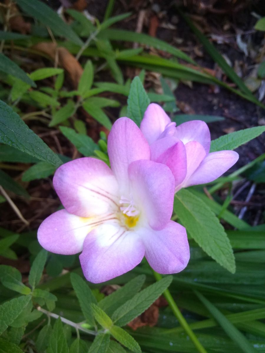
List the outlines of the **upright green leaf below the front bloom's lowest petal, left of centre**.
{"label": "upright green leaf below the front bloom's lowest petal, left of centre", "polygon": [[94,325],[94,318],[90,304],[96,304],[96,299],[88,284],[77,274],[71,273],[71,283],[81,306],[82,313],[90,325]]}

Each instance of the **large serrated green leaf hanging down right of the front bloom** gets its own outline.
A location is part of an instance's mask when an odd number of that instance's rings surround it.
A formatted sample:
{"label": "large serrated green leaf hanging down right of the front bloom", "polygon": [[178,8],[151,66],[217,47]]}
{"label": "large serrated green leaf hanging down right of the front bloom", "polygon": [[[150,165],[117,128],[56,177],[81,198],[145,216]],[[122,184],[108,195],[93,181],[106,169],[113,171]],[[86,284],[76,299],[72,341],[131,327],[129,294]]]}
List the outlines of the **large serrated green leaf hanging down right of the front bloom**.
{"label": "large serrated green leaf hanging down right of the front bloom", "polygon": [[235,273],[235,257],[230,241],[213,211],[187,189],[176,193],[174,211],[207,255],[231,273]]}

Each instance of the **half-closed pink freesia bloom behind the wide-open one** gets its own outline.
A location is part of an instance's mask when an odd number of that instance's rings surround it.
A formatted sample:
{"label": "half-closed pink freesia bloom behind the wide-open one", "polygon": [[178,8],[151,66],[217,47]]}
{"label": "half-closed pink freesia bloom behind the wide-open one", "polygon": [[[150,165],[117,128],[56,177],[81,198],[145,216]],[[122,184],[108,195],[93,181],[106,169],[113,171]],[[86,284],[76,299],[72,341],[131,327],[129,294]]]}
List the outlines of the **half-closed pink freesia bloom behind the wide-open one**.
{"label": "half-closed pink freesia bloom behind the wide-open one", "polygon": [[176,126],[155,103],[147,107],[140,128],[150,145],[151,160],[171,169],[176,192],[182,187],[219,178],[238,160],[234,151],[209,153],[211,137],[204,121],[193,120]]}

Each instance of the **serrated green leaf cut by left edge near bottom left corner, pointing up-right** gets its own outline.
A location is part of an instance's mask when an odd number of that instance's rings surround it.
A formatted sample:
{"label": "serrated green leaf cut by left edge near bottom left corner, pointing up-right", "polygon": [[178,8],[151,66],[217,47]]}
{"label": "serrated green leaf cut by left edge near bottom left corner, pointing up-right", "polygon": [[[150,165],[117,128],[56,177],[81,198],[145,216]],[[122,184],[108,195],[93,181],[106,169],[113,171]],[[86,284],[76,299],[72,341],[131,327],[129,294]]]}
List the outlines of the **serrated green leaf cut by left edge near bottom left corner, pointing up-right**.
{"label": "serrated green leaf cut by left edge near bottom left corner, pointing up-right", "polygon": [[30,302],[30,296],[21,296],[0,305],[0,335],[12,324]]}

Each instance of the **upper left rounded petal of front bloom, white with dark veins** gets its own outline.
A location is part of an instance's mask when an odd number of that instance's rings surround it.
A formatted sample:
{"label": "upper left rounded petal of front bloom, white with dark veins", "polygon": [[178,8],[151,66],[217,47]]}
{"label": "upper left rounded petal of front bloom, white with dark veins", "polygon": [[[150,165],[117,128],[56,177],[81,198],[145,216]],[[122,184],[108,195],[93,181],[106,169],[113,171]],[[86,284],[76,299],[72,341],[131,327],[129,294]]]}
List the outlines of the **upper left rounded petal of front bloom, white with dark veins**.
{"label": "upper left rounded petal of front bloom, white with dark veins", "polygon": [[60,166],[53,185],[62,204],[81,217],[117,209],[118,183],[111,169],[96,158],[78,158]]}

